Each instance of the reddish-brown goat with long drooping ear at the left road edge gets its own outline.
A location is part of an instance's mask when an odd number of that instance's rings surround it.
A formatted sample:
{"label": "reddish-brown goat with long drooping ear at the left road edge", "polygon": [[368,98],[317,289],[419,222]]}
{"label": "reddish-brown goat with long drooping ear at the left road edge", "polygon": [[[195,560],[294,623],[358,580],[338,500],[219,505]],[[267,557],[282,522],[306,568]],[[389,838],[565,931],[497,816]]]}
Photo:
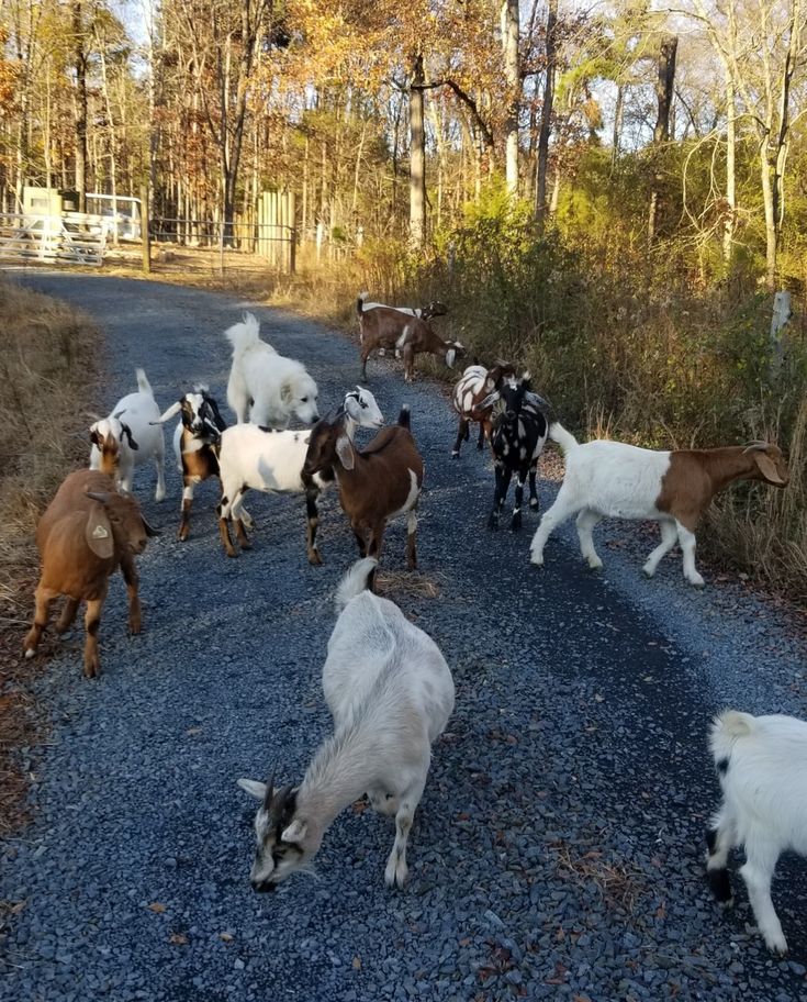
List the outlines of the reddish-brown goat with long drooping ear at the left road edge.
{"label": "reddish-brown goat with long drooping ear at the left road edge", "polygon": [[141,632],[141,602],[134,557],[143,553],[147,536],[156,535],[131,494],[120,494],[114,482],[99,470],[70,474],[36,526],[42,575],[35,592],[34,622],[23,643],[33,657],[47,626],[51,603],[67,597],[56,632],[69,630],[79,603],[87,602],[85,675],[99,669],[98,630],[110,575],[120,565],[128,592],[128,631]]}

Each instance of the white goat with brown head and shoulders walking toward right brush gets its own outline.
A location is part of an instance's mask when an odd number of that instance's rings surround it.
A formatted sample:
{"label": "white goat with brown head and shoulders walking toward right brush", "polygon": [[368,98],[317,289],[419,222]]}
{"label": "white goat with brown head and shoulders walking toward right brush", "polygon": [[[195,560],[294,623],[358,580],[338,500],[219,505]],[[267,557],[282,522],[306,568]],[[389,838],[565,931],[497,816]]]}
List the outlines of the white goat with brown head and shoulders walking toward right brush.
{"label": "white goat with brown head and shoulders walking toward right brush", "polygon": [[563,449],[567,469],[554,504],[541,519],[530,545],[530,558],[539,567],[549,534],[572,515],[578,515],[581,554],[593,570],[603,566],[592,538],[597,522],[604,517],[647,519],[660,523],[661,544],[642,568],[646,576],[652,578],[677,539],[684,577],[703,588],[704,579],[695,569],[695,528],[714,496],[735,480],[786,487],[789,479],[782,453],[765,442],[653,452],[604,439],[580,444],[558,422],[549,426],[549,437]]}

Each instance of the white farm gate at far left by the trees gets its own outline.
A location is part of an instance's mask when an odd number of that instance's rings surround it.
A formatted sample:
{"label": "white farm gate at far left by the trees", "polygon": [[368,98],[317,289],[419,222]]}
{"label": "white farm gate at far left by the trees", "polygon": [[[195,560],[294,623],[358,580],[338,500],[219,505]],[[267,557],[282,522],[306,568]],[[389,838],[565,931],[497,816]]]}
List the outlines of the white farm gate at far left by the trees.
{"label": "white farm gate at far left by the trees", "polygon": [[0,258],[101,265],[107,221],[85,212],[0,215]]}

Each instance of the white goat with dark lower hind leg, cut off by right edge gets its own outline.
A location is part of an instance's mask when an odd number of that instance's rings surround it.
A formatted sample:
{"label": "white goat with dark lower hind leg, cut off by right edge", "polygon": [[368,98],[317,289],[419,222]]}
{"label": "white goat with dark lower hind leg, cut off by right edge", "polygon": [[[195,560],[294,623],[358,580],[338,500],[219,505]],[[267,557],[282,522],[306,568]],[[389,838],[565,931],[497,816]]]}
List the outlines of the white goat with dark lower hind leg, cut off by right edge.
{"label": "white goat with dark lower hind leg, cut off by right edge", "polygon": [[726,710],[715,717],[710,747],[724,799],[706,833],[709,884],[724,906],[732,904],[726,864],[733,846],[744,846],[740,873],[754,918],[767,948],[784,955],[771,878],[786,849],[807,856],[807,723]]}

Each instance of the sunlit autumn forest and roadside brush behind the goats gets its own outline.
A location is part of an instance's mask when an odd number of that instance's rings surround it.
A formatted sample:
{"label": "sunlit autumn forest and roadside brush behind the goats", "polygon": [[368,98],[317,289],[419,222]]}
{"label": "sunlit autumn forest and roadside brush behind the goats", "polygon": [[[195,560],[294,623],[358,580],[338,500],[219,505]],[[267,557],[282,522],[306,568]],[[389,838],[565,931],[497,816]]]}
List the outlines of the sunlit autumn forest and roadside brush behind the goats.
{"label": "sunlit autumn forest and roadside brush behind the goats", "polygon": [[[718,557],[807,599],[803,0],[2,0],[0,211],[137,196],[236,243],[293,192],[277,298],[449,304],[571,426],[776,441]],[[316,242],[324,247],[315,255]],[[772,330],[775,292],[792,316]]]}

